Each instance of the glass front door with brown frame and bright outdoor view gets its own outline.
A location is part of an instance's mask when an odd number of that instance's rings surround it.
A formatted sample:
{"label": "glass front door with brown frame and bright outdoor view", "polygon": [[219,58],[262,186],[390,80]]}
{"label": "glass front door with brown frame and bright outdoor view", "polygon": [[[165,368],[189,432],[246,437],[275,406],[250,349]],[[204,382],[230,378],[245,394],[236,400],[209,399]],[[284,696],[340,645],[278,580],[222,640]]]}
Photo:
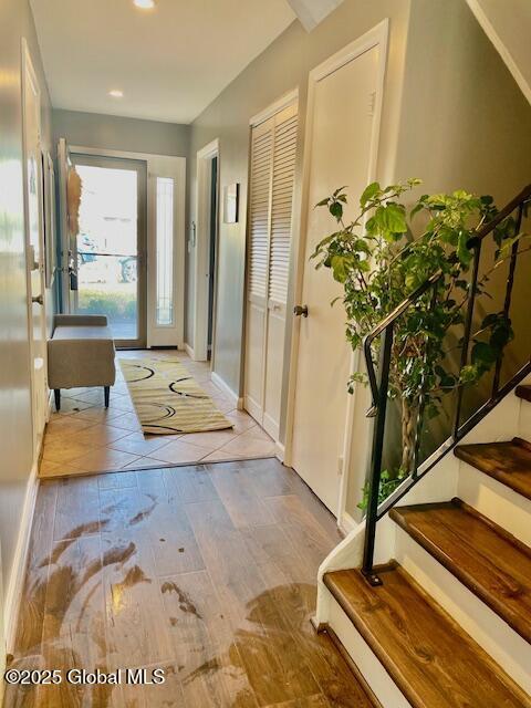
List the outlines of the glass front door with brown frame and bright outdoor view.
{"label": "glass front door with brown frame and bright outdoor view", "polygon": [[146,165],[86,155],[73,163],[82,191],[71,310],[107,315],[117,346],[145,346]]}

